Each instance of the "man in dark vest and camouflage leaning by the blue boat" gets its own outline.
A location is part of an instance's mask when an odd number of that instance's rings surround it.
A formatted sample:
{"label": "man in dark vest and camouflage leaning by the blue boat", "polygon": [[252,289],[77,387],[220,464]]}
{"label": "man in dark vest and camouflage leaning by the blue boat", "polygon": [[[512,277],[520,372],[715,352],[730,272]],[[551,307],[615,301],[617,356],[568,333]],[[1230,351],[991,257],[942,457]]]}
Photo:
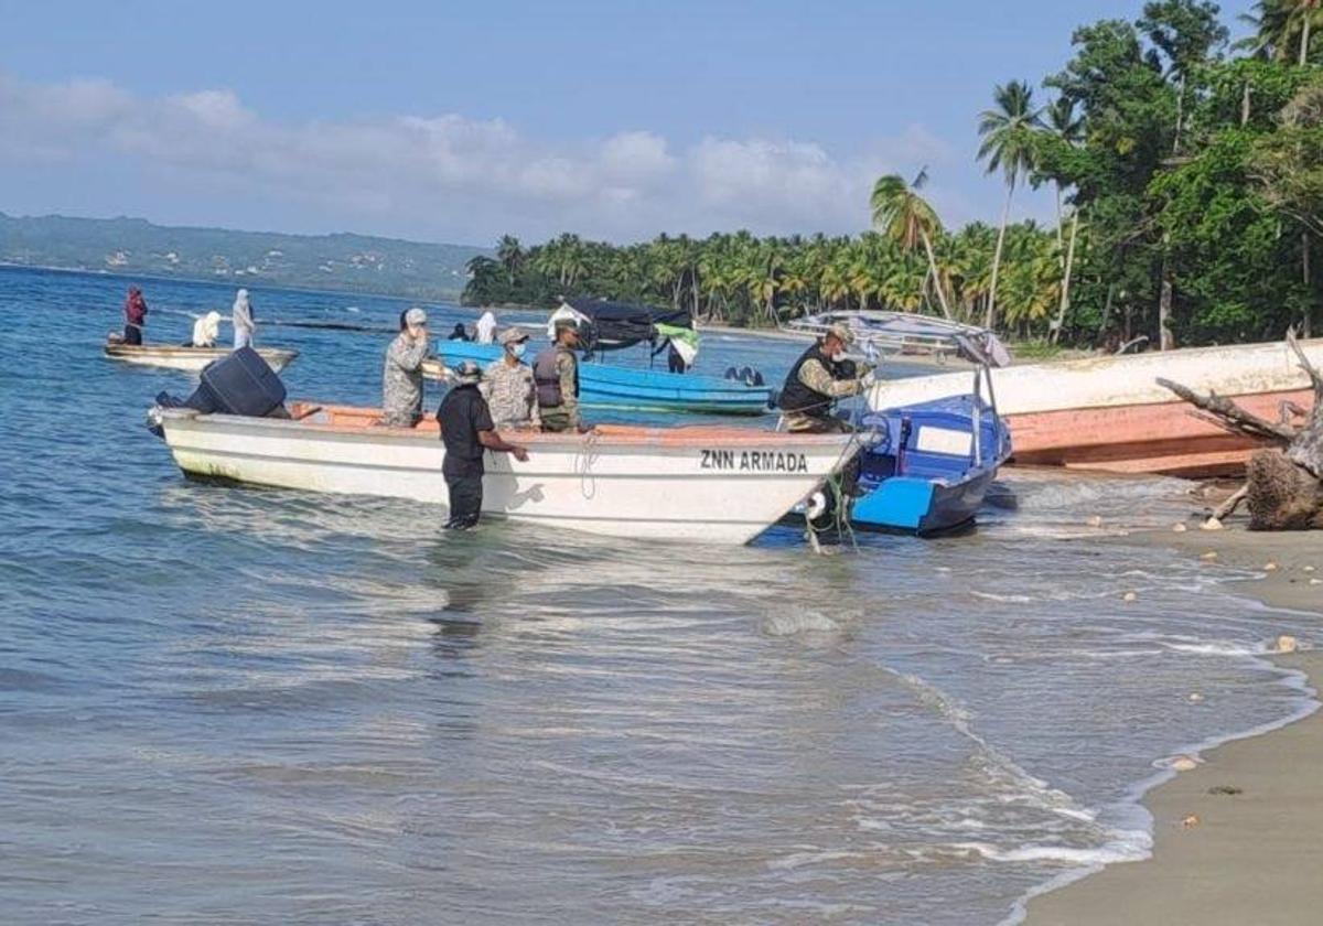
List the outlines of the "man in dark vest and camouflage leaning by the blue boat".
{"label": "man in dark vest and camouflage leaning by the blue boat", "polygon": [[837,398],[857,396],[873,384],[872,366],[841,360],[855,333],[832,325],[822,341],[800,355],[786,376],[779,406],[790,431],[808,434],[845,433],[848,423],[832,414]]}

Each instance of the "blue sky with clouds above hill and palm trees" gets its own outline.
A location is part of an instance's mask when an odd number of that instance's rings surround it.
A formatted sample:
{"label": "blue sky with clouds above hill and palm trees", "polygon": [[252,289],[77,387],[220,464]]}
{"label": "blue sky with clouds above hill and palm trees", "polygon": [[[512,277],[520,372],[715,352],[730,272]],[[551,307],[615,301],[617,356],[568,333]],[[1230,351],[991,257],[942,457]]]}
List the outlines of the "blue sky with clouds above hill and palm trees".
{"label": "blue sky with clouds above hill and palm trees", "polygon": [[[995,222],[994,85],[1039,85],[1076,26],[1142,5],[0,0],[0,212],[478,245],[839,234],[878,175],[926,165],[949,225]],[[1050,220],[1049,194],[1015,214]]]}

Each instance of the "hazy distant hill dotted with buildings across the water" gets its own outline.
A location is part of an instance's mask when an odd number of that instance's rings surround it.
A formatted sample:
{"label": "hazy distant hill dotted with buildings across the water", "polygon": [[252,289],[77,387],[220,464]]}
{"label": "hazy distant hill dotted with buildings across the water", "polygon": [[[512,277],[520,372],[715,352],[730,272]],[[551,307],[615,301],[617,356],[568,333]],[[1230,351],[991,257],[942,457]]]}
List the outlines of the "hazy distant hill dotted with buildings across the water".
{"label": "hazy distant hill dotted with buildings across the water", "polygon": [[168,228],[142,218],[0,213],[0,263],[458,299],[464,265],[490,249],[361,234]]}

